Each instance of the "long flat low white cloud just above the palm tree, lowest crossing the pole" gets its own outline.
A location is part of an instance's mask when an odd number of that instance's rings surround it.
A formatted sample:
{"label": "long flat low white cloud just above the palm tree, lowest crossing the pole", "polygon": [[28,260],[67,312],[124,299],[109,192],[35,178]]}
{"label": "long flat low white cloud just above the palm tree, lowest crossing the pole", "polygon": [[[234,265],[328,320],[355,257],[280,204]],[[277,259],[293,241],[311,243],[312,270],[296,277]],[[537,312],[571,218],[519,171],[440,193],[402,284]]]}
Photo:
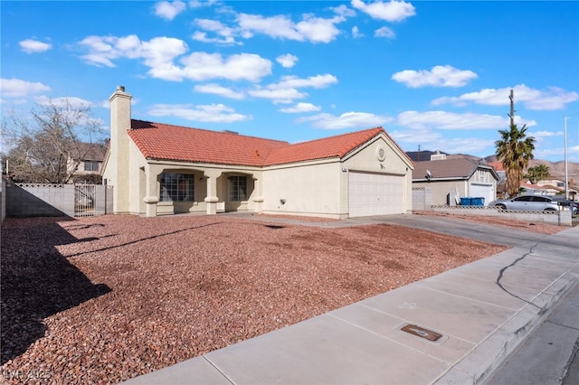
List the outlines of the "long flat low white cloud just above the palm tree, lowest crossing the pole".
{"label": "long flat low white cloud just above the palm tree, lowest crossing the pole", "polygon": [[[436,128],[442,130],[502,129],[508,127],[508,117],[487,114],[456,114],[446,111],[405,111],[398,115],[397,123],[413,129]],[[515,117],[517,125],[536,126],[535,120]]]}

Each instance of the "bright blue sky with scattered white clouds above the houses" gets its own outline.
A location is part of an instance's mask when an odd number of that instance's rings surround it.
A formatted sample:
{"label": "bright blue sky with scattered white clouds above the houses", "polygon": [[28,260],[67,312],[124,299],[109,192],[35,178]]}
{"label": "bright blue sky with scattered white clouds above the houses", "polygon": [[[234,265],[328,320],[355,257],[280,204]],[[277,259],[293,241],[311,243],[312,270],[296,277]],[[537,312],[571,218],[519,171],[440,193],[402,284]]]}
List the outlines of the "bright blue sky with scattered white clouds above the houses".
{"label": "bright blue sky with scattered white clouds above the houses", "polygon": [[2,1],[3,115],[68,98],[290,143],[382,126],[492,155],[509,91],[535,157],[579,162],[576,1]]}

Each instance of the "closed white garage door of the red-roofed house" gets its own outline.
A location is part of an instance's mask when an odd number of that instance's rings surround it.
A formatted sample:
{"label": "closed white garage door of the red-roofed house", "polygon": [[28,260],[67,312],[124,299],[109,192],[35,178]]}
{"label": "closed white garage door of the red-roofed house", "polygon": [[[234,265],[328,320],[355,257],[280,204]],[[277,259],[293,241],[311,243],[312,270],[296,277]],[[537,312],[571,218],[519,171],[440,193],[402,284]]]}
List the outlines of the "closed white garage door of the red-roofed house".
{"label": "closed white garage door of the red-roofed house", "polygon": [[350,217],[403,214],[404,179],[400,175],[349,173]]}

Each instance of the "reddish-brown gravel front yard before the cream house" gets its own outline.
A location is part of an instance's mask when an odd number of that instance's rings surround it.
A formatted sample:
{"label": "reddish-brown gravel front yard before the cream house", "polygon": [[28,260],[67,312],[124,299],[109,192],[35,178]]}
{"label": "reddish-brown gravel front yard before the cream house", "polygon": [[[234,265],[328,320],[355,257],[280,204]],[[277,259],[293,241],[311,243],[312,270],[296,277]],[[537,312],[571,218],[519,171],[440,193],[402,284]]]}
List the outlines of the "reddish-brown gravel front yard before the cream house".
{"label": "reddish-brown gravel front yard before the cream house", "polygon": [[8,383],[117,383],[507,249],[219,215],[8,218],[1,241]]}

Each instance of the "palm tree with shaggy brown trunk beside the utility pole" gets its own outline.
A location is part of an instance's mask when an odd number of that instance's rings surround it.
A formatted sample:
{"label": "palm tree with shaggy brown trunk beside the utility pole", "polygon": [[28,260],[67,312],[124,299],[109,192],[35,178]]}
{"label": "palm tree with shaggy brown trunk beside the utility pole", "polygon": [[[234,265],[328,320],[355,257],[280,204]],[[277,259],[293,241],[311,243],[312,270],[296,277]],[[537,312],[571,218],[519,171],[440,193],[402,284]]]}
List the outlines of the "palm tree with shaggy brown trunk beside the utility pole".
{"label": "palm tree with shaggy brown trunk beside the utility pole", "polygon": [[527,137],[526,132],[527,125],[518,129],[516,124],[511,123],[509,129],[498,130],[501,140],[495,142],[498,160],[502,162],[507,175],[507,193],[510,197],[518,194],[525,169],[533,159],[535,138]]}

